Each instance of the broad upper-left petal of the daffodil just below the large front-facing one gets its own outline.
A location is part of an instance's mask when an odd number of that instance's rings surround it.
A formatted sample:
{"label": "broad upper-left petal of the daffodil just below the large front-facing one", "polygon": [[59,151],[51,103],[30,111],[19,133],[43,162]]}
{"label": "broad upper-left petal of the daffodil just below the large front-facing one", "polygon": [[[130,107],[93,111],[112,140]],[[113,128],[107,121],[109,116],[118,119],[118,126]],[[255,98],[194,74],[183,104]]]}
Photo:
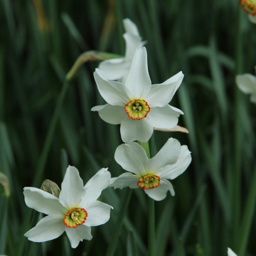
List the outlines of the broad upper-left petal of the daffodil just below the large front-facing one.
{"label": "broad upper-left petal of the daffodil just below the large front-facing one", "polygon": [[148,157],[145,150],[137,143],[122,144],[116,148],[115,160],[124,170],[135,174],[145,174]]}

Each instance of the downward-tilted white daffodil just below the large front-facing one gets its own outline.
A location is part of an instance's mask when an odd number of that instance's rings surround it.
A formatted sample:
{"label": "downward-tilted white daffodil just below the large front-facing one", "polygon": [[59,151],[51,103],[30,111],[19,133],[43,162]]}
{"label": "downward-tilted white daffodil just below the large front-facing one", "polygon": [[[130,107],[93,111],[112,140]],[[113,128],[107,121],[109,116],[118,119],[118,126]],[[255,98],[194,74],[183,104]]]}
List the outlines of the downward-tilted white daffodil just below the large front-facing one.
{"label": "downward-tilted white daffodil just below the large front-facing one", "polygon": [[191,154],[187,146],[180,146],[178,140],[170,138],[151,159],[137,142],[132,142],[117,147],[115,160],[128,172],[111,178],[109,187],[141,188],[149,197],[160,201],[166,197],[168,190],[174,196],[168,180],[175,179],[187,169]]}

